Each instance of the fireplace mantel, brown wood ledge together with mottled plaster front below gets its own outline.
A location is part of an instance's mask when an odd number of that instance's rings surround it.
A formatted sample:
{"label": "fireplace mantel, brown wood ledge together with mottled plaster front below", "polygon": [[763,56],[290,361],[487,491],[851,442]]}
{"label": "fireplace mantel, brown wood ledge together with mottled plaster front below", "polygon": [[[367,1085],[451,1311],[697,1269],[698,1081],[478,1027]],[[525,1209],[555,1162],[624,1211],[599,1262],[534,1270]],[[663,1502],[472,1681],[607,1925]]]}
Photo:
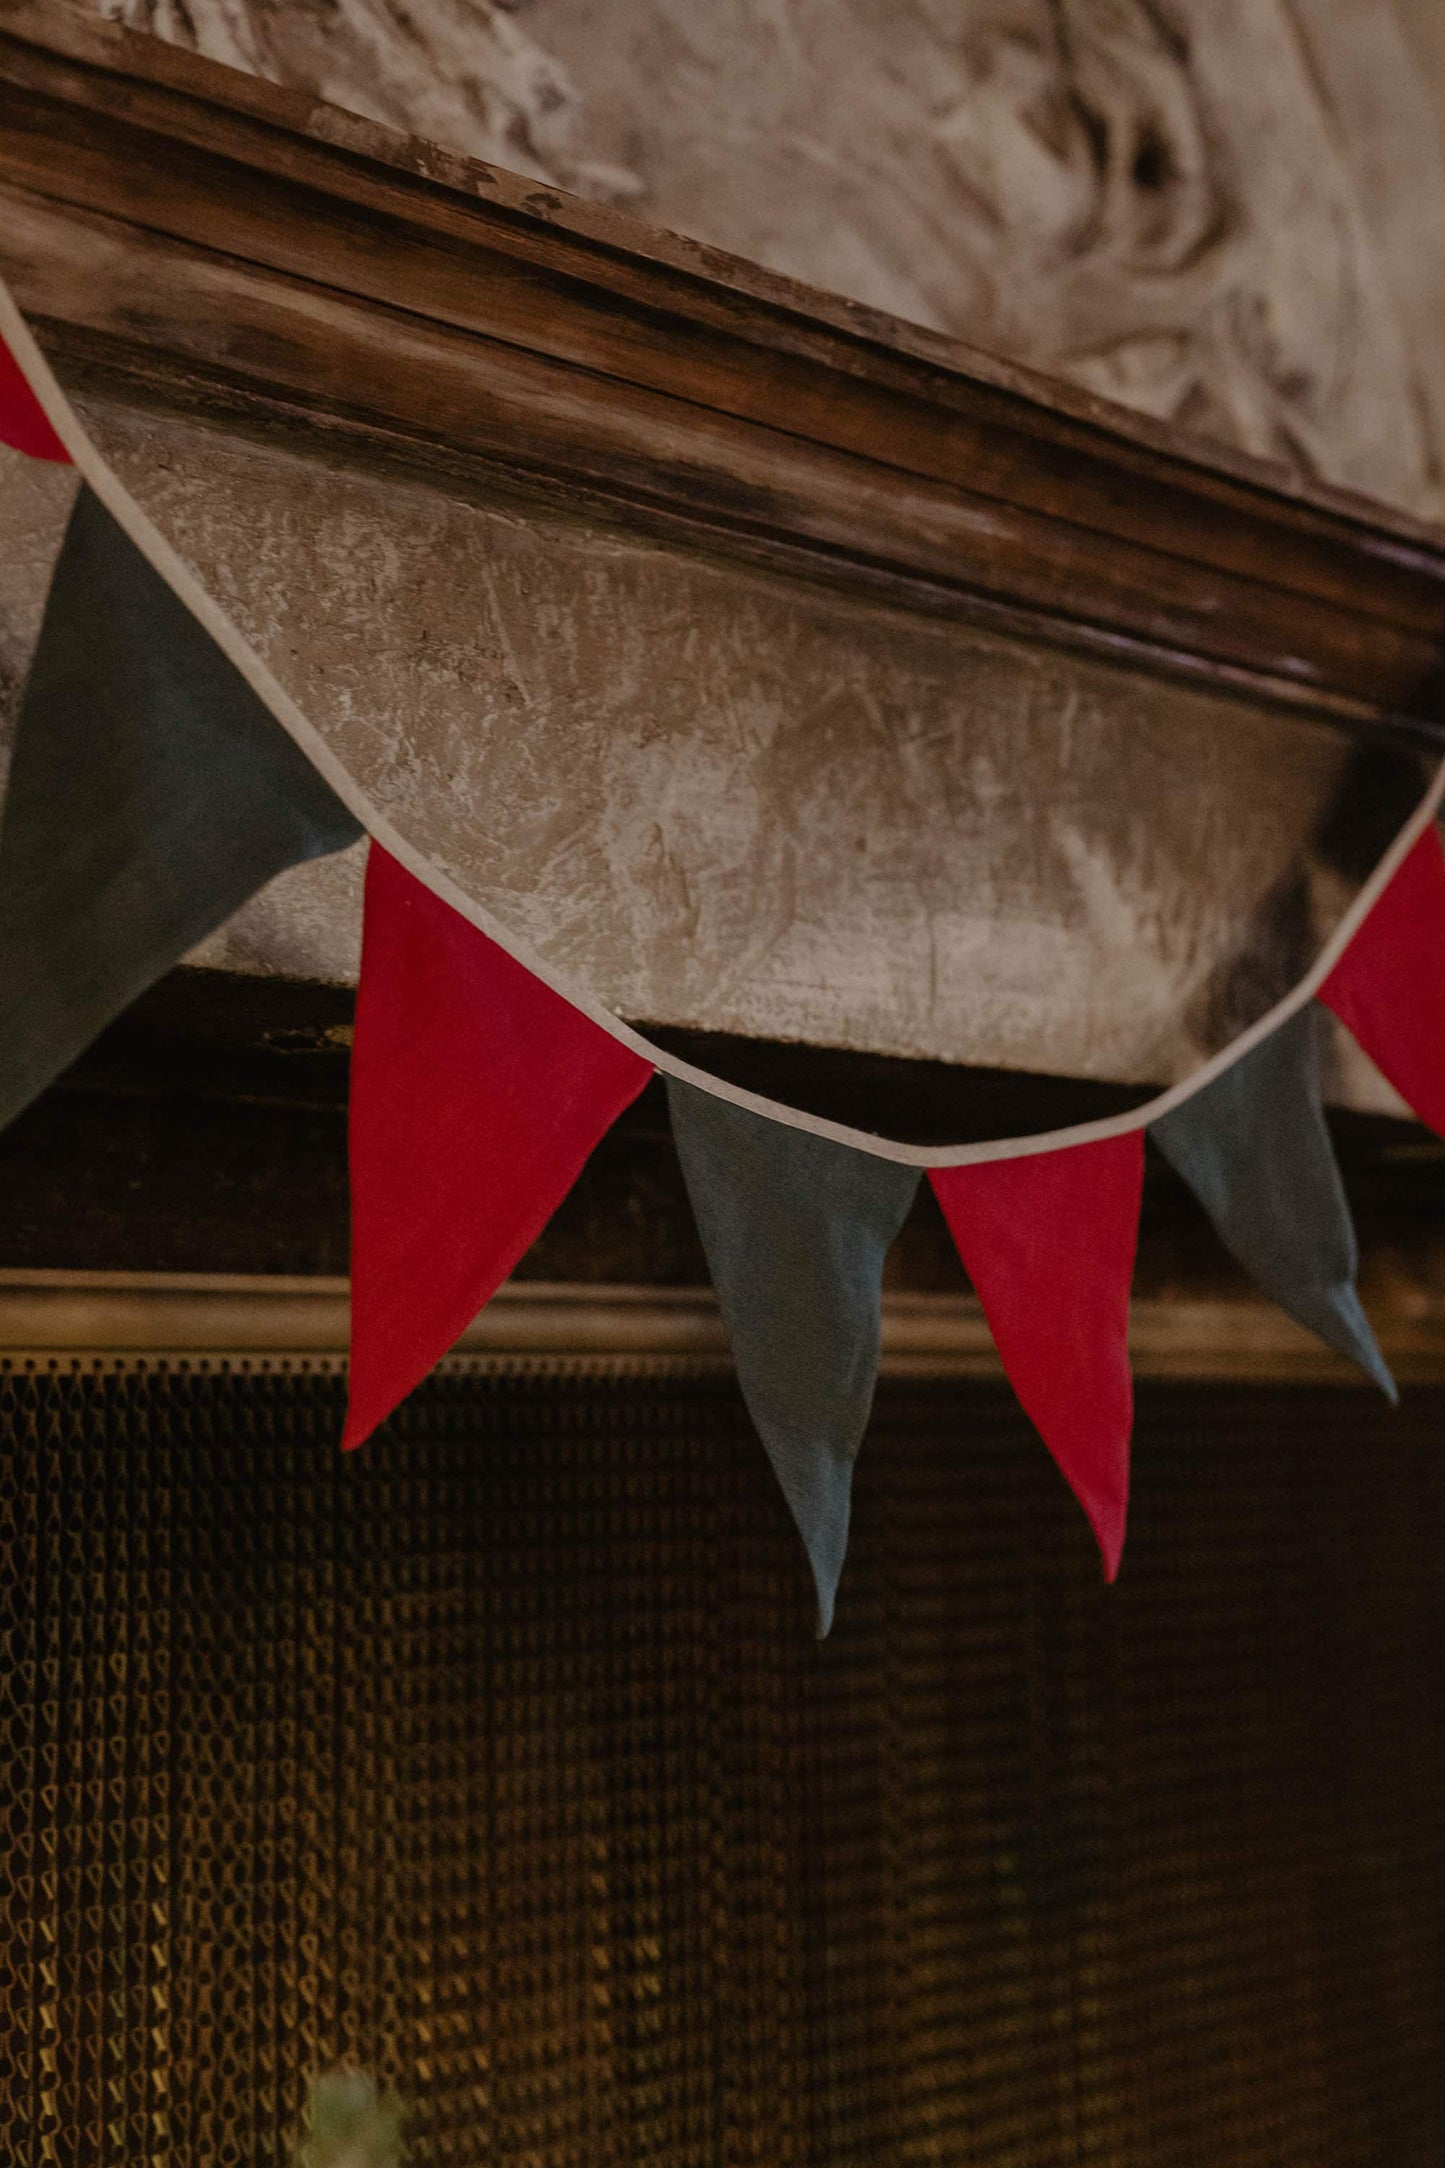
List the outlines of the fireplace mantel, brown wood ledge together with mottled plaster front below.
{"label": "fireplace mantel, brown wood ledge together with mottled plaster front below", "polygon": [[[1445,739],[1445,533],[61,0],[0,275],[416,848],[654,1032],[1172,1082]],[[0,737],[67,488],[0,479]],[[204,960],[344,984],[357,900]]]}

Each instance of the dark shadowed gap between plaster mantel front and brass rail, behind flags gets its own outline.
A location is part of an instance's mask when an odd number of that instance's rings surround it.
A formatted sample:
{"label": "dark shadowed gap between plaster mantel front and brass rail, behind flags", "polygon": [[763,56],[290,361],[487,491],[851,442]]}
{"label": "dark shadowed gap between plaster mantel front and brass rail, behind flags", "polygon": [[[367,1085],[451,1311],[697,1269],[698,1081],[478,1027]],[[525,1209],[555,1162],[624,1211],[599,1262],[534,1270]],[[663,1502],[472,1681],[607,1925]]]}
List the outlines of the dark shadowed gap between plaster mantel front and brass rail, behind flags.
{"label": "dark shadowed gap between plaster mantel front and brass rail, behind flags", "polygon": [[[351,1015],[351,995],[334,986],[171,973],[0,1134],[0,1266],[344,1273]],[[869,1091],[899,1080],[914,1106],[938,1110],[947,1097],[949,1123],[968,1095],[975,1106],[1038,1095],[1040,1125],[1114,1110],[1107,1086],[1057,1077],[758,1041],[693,1038],[689,1056],[719,1073],[732,1062],[760,1091],[789,1084],[797,1104],[817,1091],[845,1121],[871,1104]],[[1332,1130],[1365,1249],[1389,1244],[1404,1268],[1430,1268],[1445,1225],[1445,1145],[1378,1117],[1337,1114]],[[706,1283],[661,1084],[598,1145],[520,1277]],[[888,1283],[962,1286],[927,1184]],[[1194,1197],[1153,1153],[1135,1283],[1235,1283]]]}

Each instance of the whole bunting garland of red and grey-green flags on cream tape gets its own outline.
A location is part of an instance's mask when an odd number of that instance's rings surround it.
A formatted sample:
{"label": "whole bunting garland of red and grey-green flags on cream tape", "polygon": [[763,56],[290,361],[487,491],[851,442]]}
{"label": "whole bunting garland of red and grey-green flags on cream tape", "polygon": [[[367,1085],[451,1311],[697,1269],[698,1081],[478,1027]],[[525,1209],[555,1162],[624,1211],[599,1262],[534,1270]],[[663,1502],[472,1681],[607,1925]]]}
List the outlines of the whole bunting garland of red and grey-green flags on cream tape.
{"label": "whole bunting garland of red and grey-green flags on cream tape", "polygon": [[0,1121],[284,867],[370,835],[351,1080],[344,1444],[453,1346],[663,1071],[754,1424],[832,1624],[884,1257],[927,1173],[1020,1405],[1118,1572],[1144,1136],[1285,1309],[1393,1381],[1319,1091],[1330,1008],[1445,1134],[1436,778],[1289,993],[1146,1106],[893,1143],[728,1084],[568,986],[362,791],[89,442],[0,288],[0,442],[74,464],[0,824]]}

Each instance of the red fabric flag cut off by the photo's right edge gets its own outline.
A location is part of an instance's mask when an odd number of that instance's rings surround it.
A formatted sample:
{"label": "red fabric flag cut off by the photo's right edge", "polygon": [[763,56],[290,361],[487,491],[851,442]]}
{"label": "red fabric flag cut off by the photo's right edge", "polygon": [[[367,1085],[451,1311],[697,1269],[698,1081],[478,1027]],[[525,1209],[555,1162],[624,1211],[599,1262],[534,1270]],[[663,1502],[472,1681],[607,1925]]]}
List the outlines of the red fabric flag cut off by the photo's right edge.
{"label": "red fabric flag cut off by the photo's right edge", "polygon": [[1445,1136],[1445,852],[1434,822],[1369,911],[1319,999],[1419,1119]]}

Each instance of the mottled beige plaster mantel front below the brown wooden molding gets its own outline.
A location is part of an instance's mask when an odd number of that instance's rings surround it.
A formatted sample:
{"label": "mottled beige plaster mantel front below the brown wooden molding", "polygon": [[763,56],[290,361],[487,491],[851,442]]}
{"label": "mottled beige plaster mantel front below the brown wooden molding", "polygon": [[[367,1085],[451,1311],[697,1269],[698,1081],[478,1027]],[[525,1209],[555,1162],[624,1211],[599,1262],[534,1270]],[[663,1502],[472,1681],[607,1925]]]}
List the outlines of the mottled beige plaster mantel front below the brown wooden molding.
{"label": "mottled beige plaster mantel front below the brown wooden molding", "polygon": [[[1222,989],[1341,780],[1313,724],[186,421],[84,416],[399,828],[628,1017],[1176,1075],[1237,1025]],[[288,876],[210,960],[351,978],[357,874],[353,852]],[[1324,928],[1345,891],[1309,882]]]}

